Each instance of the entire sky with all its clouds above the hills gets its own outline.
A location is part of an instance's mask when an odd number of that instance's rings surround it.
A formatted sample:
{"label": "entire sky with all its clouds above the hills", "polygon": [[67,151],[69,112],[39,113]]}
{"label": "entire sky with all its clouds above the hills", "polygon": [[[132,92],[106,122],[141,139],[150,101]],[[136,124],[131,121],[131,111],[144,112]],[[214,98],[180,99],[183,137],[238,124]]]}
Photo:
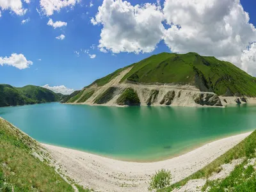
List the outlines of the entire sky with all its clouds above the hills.
{"label": "entire sky with all its clouds above the hills", "polygon": [[255,0],[0,0],[0,83],[65,94],[160,52],[256,76]]}

